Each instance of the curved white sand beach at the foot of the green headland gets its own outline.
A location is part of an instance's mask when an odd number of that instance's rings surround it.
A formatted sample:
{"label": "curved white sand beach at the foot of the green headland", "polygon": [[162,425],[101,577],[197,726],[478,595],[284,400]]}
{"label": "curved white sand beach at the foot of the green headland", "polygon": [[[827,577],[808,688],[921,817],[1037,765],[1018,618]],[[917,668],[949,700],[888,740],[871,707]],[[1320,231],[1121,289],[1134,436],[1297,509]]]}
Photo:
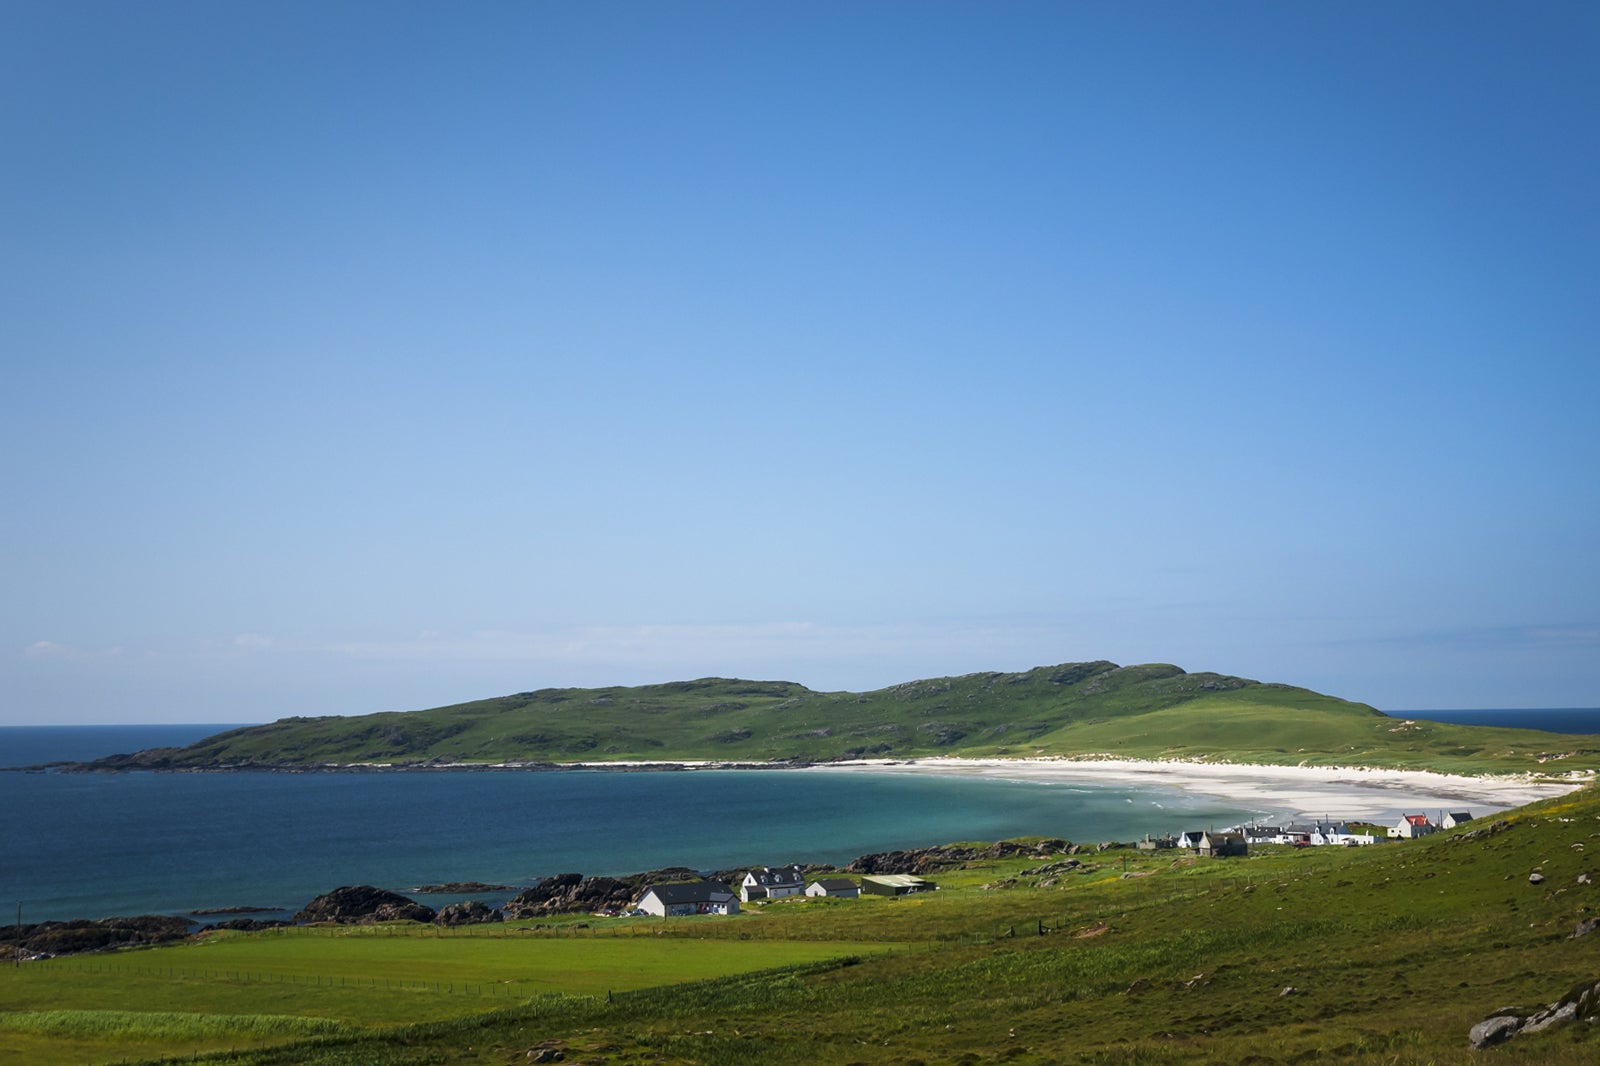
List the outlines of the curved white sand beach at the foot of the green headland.
{"label": "curved white sand beach at the foot of the green headland", "polygon": [[1170,786],[1232,800],[1250,810],[1288,818],[1387,824],[1403,813],[1470,812],[1483,816],[1590,781],[1589,775],[1456,776],[1422,770],[1365,767],[1264,767],[1218,762],[1146,762],[1131,759],[915,759],[859,760],[814,767],[822,771],[936,773],[1011,781]]}

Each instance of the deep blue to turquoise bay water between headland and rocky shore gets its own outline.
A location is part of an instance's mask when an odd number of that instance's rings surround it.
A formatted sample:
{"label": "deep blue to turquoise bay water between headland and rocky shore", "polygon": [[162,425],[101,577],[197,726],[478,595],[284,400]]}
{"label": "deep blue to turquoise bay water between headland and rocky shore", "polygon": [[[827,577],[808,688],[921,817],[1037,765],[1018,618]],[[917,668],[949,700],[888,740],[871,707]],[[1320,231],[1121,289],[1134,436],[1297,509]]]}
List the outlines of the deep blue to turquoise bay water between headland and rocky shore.
{"label": "deep blue to turquoise bay water between headland and rocky shore", "polygon": [[[0,743],[10,733],[0,730]],[[0,765],[16,765],[18,747],[0,747]],[[784,770],[13,771],[0,773],[0,920],[21,903],[30,922],[294,911],[349,884],[525,885],[565,871],[843,863],[1029,834],[1133,839],[1258,813],[1168,787]]]}

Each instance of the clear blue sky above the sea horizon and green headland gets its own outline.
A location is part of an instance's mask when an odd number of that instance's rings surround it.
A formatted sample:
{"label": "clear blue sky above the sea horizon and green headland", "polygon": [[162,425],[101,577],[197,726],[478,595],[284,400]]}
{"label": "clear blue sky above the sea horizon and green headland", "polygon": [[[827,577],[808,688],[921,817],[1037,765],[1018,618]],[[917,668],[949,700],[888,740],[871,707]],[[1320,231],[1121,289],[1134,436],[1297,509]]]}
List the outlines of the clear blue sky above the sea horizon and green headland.
{"label": "clear blue sky above the sea horizon and green headland", "polygon": [[1600,704],[1590,3],[0,8],[0,723]]}

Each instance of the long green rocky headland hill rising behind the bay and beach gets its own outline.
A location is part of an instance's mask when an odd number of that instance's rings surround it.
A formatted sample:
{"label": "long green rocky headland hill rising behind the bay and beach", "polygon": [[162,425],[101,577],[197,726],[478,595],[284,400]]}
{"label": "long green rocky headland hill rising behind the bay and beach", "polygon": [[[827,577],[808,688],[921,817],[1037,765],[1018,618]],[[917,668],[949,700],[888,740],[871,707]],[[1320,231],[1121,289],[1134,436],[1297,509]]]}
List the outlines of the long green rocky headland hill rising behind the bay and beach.
{"label": "long green rocky headland hill rising behind the bay and beach", "polygon": [[635,688],[544,688],[430,711],[283,719],[107,765],[1072,754],[1568,770],[1600,765],[1600,738],[1405,723],[1366,704],[1291,685],[1189,674],[1160,663],[1101,661],[938,677],[866,693],[718,677]]}

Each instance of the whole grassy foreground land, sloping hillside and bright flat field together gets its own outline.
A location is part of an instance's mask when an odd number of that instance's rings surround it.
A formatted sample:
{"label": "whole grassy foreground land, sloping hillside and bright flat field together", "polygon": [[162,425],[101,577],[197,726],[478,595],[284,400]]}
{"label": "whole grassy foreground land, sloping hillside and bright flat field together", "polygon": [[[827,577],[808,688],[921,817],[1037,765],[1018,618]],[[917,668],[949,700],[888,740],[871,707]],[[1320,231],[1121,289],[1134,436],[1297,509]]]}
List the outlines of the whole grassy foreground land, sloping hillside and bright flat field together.
{"label": "whole grassy foreground land, sloping hillside and bright flat field together", "polygon": [[[1600,791],[1502,818],[1240,860],[992,860],[925,896],[720,919],[454,941],[296,930],[29,964],[0,973],[0,1061],[158,1047],[229,1066],[1600,1061],[1587,1023],[1467,1047],[1501,1008],[1600,980],[1600,932],[1573,936],[1600,909]],[[763,956],[774,967],[750,973]],[[528,997],[528,983],[565,991]],[[61,1016],[27,1010],[45,999]],[[66,1044],[72,1058],[50,1056]]]}

